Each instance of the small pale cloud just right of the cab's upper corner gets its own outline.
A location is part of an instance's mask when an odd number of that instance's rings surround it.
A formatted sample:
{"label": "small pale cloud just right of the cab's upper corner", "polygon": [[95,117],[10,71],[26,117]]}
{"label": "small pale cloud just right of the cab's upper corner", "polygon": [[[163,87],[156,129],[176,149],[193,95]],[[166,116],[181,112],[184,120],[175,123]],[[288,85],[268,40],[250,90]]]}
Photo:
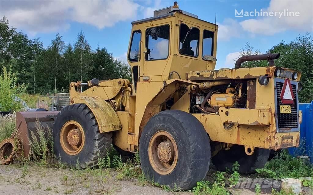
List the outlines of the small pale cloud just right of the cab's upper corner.
{"label": "small pale cloud just right of the cab's upper corner", "polygon": [[240,37],[242,27],[231,18],[226,18],[222,24],[218,23],[218,40],[228,41],[231,37]]}

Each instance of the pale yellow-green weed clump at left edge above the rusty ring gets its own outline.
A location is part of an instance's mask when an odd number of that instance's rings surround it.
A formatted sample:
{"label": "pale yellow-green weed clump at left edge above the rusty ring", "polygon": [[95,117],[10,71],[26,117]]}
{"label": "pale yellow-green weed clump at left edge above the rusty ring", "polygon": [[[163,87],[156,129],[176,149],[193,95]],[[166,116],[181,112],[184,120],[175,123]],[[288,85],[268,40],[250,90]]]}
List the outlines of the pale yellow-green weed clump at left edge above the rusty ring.
{"label": "pale yellow-green weed clump at left edge above the rusty ring", "polygon": [[6,138],[10,138],[12,133],[16,130],[15,115],[7,116],[0,115],[0,142]]}

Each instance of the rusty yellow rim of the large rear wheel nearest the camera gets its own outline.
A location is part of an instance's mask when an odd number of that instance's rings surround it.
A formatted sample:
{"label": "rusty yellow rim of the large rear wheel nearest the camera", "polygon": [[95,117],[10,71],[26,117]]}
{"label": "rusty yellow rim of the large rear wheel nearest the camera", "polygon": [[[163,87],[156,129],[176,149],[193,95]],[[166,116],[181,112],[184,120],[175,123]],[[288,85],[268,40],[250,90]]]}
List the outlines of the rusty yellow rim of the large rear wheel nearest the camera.
{"label": "rusty yellow rim of the large rear wheel nearest the camera", "polygon": [[149,142],[149,161],[152,168],[161,175],[172,173],[178,159],[177,144],[166,131],[156,132]]}

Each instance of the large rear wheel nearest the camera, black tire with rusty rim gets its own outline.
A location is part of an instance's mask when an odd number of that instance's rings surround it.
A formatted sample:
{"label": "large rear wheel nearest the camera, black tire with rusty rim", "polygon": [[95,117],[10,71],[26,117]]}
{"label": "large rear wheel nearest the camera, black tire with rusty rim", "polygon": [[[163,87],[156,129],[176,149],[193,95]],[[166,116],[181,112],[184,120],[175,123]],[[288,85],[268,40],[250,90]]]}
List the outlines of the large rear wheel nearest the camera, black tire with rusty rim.
{"label": "large rear wheel nearest the camera, black tire with rusty rim", "polygon": [[139,155],[149,181],[188,190],[209,170],[210,141],[197,118],[167,110],[153,116],[144,127]]}

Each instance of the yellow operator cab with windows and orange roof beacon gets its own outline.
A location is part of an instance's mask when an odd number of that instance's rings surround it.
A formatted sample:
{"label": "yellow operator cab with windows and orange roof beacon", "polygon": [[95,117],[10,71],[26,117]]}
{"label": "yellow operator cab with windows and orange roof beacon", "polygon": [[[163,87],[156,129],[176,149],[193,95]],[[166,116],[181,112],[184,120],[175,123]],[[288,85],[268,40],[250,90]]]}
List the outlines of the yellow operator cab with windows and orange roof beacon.
{"label": "yellow operator cab with windows and orange roof beacon", "polygon": [[186,79],[190,71],[214,70],[218,26],[174,6],[132,23],[127,54],[137,82]]}

